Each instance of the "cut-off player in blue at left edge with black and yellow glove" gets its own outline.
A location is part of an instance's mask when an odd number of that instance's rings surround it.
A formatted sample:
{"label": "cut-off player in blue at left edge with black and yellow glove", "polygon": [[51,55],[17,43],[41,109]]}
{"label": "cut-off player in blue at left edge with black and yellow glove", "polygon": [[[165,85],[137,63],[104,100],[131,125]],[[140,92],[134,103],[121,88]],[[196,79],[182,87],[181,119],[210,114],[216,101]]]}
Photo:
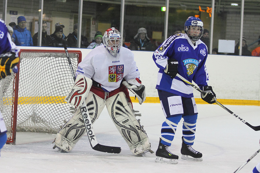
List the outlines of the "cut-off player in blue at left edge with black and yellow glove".
{"label": "cut-off player in blue at left edge with black and yellow glove", "polygon": [[[0,80],[12,74],[12,68],[19,62],[18,52],[19,49],[12,42],[5,22],[0,19]],[[3,116],[0,112],[0,151],[7,140],[6,131]]]}

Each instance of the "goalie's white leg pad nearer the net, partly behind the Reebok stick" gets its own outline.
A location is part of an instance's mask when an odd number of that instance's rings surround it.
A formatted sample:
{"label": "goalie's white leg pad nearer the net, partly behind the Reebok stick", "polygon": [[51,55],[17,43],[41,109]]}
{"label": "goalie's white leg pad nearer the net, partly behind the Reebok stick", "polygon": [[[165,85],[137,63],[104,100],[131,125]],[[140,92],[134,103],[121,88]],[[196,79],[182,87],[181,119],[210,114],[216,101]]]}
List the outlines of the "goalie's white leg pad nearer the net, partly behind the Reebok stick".
{"label": "goalie's white leg pad nearer the net, partly behind the Reebok stick", "polygon": [[[85,101],[91,122],[94,123],[105,107],[105,100],[90,92]],[[61,151],[69,152],[85,133],[85,125],[78,108],[73,117],[57,133],[55,147],[60,148]]]}

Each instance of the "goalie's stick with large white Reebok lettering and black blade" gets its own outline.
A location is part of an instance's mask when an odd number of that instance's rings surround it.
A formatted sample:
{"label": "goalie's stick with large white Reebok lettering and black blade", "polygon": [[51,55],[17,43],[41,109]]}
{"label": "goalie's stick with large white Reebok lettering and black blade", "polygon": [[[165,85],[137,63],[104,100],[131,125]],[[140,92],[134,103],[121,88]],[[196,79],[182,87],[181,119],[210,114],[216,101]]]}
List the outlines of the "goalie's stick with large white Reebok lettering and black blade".
{"label": "goalie's stick with large white Reebok lettering and black blade", "polygon": [[[69,57],[69,54],[68,54],[66,44],[64,42],[63,42],[63,46],[64,46],[66,56],[67,56],[67,59],[68,59],[68,63],[69,63],[69,66],[70,66],[71,74],[72,74],[73,79],[75,81],[76,80],[75,73],[74,73],[74,70],[72,68],[72,64],[71,64],[71,61],[70,61],[70,57]],[[88,108],[87,108],[85,101],[83,102],[82,106],[79,106],[79,109],[80,109],[80,112],[81,112],[81,115],[82,115],[82,118],[83,118],[83,121],[84,121],[84,125],[85,125],[85,128],[86,128],[87,134],[88,134],[88,140],[90,142],[90,146],[96,151],[101,151],[101,152],[105,152],[105,153],[120,153],[121,152],[120,147],[101,145],[97,142],[96,135],[94,133],[94,129],[93,129],[93,126],[92,126],[92,123],[91,123],[90,116],[88,114]]]}

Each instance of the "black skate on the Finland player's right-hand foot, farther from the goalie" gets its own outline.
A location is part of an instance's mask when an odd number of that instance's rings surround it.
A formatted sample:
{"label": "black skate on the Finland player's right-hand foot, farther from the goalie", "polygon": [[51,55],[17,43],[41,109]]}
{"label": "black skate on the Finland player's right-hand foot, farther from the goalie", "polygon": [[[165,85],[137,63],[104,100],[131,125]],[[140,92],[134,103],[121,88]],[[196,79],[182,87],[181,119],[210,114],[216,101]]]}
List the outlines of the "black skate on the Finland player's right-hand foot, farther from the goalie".
{"label": "black skate on the Finland player's right-hand foot, farther from the goalie", "polygon": [[183,142],[183,137],[181,139],[181,158],[185,160],[202,161],[202,153],[194,150],[191,145],[185,144]]}

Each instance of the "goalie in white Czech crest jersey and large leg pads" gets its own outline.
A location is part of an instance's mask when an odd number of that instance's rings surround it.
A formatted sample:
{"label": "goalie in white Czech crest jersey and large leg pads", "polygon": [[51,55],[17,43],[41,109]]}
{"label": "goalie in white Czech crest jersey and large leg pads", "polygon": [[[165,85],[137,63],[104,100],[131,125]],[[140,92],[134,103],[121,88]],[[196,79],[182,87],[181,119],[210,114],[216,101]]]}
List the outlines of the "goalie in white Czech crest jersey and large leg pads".
{"label": "goalie in white Czech crest jersey and large leg pads", "polygon": [[[127,142],[134,155],[151,151],[148,136],[137,120],[129,92],[138,98],[139,104],[145,100],[145,87],[139,79],[139,71],[133,53],[121,47],[121,34],[109,28],[103,36],[104,45],[97,46],[79,63],[74,86],[85,86],[86,90],[70,91],[68,100],[78,106],[85,100],[92,123],[99,118],[106,106],[109,116]],[[86,81],[86,82],[84,82]],[[90,88],[88,88],[88,86]],[[84,87],[83,87],[84,88]],[[89,92],[88,92],[89,91]],[[71,103],[68,101],[69,103]],[[75,104],[77,102],[77,104]],[[86,133],[80,109],[66,122],[55,138],[55,147],[69,152]]]}

